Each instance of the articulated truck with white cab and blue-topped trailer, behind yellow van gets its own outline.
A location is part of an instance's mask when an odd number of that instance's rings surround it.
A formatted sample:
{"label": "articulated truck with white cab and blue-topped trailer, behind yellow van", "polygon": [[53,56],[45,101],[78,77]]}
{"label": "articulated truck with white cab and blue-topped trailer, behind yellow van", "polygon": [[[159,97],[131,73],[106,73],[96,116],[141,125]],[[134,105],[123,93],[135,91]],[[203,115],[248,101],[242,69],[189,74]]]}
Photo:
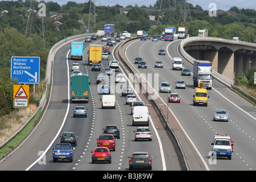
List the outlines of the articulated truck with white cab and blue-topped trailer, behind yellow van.
{"label": "articulated truck with white cab and blue-topped trailer, behind yellow van", "polygon": [[212,89],[212,62],[194,60],[193,84],[197,87],[200,82],[203,82],[204,88]]}

